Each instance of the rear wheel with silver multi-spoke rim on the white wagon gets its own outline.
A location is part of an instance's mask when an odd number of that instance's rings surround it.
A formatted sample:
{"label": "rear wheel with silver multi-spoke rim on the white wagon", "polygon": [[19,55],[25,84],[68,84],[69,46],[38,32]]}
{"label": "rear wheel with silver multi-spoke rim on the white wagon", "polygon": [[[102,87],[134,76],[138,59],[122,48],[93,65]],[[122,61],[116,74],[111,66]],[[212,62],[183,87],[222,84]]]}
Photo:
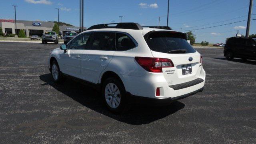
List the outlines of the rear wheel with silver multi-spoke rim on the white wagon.
{"label": "rear wheel with silver multi-spoke rim on the white wagon", "polygon": [[120,114],[128,110],[124,85],[117,78],[108,78],[103,82],[102,97],[104,98],[107,108],[111,112]]}

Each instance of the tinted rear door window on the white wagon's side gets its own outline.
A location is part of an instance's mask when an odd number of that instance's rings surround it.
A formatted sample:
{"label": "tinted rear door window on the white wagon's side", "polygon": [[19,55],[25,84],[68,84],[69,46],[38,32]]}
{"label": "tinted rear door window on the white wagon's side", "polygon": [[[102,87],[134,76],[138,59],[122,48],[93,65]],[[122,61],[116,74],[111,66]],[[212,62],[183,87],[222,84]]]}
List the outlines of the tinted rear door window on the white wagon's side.
{"label": "tinted rear door window on the white wagon's side", "polygon": [[90,46],[90,50],[116,50],[115,33],[113,32],[94,32]]}

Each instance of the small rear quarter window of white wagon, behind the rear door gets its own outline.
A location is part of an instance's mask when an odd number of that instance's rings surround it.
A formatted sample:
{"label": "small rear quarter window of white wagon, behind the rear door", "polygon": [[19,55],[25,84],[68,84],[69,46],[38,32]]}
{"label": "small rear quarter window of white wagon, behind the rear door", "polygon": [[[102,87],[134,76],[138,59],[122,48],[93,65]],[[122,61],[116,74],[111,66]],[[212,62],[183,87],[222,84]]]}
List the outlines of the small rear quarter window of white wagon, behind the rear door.
{"label": "small rear quarter window of white wagon, behind the rear door", "polygon": [[122,33],[116,33],[116,50],[117,51],[124,51],[124,50],[130,50],[134,48],[136,45],[130,39],[129,36]]}

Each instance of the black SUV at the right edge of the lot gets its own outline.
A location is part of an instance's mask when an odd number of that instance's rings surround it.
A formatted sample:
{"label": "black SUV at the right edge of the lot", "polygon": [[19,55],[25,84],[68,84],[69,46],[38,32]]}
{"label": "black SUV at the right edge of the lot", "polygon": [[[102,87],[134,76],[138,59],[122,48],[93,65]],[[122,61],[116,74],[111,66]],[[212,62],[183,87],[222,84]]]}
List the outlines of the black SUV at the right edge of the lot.
{"label": "black SUV at the right edge of the lot", "polygon": [[228,60],[233,58],[256,60],[256,38],[229,38],[224,47],[224,56]]}

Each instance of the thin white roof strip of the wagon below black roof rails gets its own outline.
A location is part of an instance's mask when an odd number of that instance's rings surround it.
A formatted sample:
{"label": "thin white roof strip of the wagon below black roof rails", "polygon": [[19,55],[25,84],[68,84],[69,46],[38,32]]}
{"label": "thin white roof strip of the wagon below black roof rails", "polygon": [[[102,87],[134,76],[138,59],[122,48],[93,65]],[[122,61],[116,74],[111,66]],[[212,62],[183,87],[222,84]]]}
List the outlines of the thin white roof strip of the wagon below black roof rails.
{"label": "thin white roof strip of the wagon below black roof rails", "polygon": [[151,31],[170,31],[170,32],[177,32],[174,30],[165,30],[165,29],[160,29],[160,28],[143,28],[142,30],[132,30],[132,29],[122,29],[122,28],[101,28],[101,29],[93,29],[93,30],[86,30],[82,33],[85,32],[95,32],[95,31],[113,31],[113,32],[126,32],[126,33],[130,33],[130,32],[142,32],[142,35],[144,36],[145,34],[147,34],[148,32]]}

